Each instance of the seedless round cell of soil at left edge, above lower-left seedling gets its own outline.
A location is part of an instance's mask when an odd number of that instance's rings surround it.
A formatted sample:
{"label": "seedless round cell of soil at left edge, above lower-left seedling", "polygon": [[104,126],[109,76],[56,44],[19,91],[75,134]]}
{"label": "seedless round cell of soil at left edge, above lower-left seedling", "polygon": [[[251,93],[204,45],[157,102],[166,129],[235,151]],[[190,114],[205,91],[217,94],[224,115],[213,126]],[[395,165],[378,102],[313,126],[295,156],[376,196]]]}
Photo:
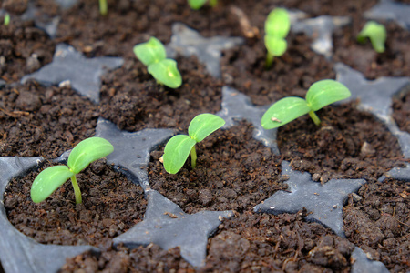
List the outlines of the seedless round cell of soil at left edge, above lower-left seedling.
{"label": "seedless round cell of soil at left edge, above lower-left seedling", "polygon": [[2,157],[56,158],[94,136],[97,106],[75,91],[36,83],[0,90]]}

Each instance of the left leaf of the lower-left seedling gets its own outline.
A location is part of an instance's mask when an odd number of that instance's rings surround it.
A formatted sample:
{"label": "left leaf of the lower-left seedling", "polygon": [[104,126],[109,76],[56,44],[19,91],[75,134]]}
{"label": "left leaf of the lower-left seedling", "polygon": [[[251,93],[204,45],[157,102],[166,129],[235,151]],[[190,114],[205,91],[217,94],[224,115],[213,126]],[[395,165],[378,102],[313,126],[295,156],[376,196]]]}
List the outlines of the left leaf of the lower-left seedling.
{"label": "left leaf of the lower-left seedling", "polygon": [[31,199],[39,203],[49,197],[69,177],[75,176],[67,166],[47,167],[40,172],[31,186]]}

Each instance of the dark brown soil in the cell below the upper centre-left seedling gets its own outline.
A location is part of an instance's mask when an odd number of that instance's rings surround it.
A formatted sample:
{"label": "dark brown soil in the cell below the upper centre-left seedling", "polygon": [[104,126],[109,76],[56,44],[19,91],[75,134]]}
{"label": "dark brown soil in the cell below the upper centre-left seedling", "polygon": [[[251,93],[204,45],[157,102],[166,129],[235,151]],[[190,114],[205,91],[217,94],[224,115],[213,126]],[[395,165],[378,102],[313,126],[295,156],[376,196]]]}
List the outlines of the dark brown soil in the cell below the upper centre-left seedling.
{"label": "dark brown soil in the cell below the upper centre-left seedling", "polygon": [[103,78],[99,115],[134,132],[184,128],[194,116],[220,111],[222,82],[209,76],[196,57],[177,61],[183,84],[173,90],[159,86],[137,58],[128,60]]}

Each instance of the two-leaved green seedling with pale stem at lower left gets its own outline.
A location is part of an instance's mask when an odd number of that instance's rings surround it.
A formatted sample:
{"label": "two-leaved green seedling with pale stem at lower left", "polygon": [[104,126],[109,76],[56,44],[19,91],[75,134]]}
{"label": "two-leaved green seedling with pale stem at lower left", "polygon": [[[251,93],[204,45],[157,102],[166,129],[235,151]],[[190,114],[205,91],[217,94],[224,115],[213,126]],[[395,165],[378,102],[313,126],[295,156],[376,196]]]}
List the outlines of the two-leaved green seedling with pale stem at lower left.
{"label": "two-leaved green seedling with pale stem at lower left", "polygon": [[31,186],[31,199],[35,203],[44,201],[57,187],[60,187],[68,178],[71,178],[76,204],[81,204],[81,191],[77,184],[76,175],[91,162],[107,157],[113,150],[114,147],[101,137],[90,137],[81,141],[68,156],[68,167],[64,165],[47,167],[37,175]]}

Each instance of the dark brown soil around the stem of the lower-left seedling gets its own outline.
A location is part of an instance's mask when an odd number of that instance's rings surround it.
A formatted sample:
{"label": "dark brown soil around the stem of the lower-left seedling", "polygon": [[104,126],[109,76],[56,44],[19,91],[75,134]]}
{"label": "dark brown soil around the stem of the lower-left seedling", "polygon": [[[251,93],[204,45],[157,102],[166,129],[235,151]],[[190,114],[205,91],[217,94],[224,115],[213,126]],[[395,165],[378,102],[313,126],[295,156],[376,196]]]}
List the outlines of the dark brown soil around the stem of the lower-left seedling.
{"label": "dark brown soil around the stem of the lower-left seedling", "polygon": [[[42,169],[51,166],[46,164]],[[83,203],[76,205],[71,182],[59,187],[46,201],[35,204],[30,188],[38,171],[14,178],[5,193],[5,210],[11,223],[37,242],[56,245],[93,245],[109,242],[145,213],[141,187],[101,159],[77,175]]]}

